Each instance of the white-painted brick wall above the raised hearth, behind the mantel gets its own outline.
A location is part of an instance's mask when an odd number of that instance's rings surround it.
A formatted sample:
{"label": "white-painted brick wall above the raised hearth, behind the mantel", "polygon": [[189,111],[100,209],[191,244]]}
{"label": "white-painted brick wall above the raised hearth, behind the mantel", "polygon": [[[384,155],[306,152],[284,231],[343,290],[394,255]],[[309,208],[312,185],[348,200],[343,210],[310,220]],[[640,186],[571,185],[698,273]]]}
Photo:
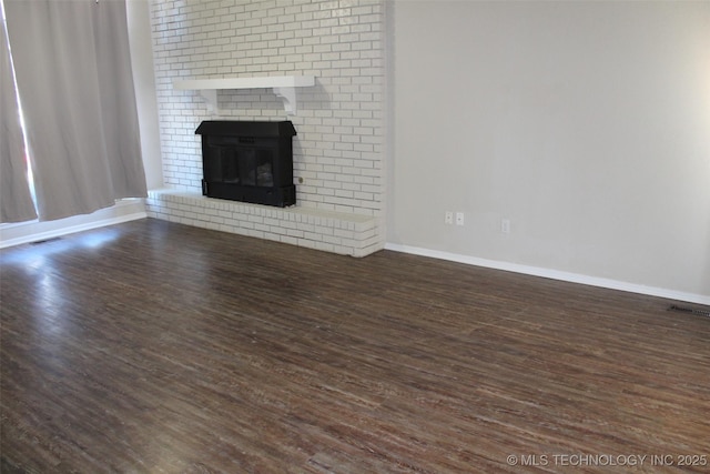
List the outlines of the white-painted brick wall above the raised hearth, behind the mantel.
{"label": "white-painted brick wall above the raised hearth, behind the mantel", "polygon": [[271,89],[219,91],[221,115],[212,115],[174,79],[314,75],[287,118],[297,205],[382,218],[384,20],[383,0],[153,0],[165,184],[201,190],[202,120],[286,118]]}

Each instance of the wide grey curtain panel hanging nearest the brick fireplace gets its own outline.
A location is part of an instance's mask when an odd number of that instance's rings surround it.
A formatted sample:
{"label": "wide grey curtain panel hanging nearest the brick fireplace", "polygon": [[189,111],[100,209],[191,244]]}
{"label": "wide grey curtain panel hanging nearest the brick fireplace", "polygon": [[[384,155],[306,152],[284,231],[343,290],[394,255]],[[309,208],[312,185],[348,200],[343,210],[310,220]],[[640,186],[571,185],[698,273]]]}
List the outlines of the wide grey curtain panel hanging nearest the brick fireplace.
{"label": "wide grey curtain panel hanging nearest the brick fireplace", "polygon": [[123,0],[4,0],[40,220],[146,195]]}

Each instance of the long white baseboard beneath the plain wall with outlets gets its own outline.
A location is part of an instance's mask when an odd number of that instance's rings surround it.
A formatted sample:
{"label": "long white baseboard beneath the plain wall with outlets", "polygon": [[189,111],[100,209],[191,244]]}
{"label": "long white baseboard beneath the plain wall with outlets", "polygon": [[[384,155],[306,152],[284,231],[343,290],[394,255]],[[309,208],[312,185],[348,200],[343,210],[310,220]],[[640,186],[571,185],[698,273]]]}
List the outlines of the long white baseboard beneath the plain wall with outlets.
{"label": "long white baseboard beneath the plain wall with outlets", "polygon": [[621,282],[618,280],[600,279],[579,273],[561,272],[558,270],[544,269],[539,266],[520,265],[517,263],[500,262],[496,260],[479,259],[476,256],[462,255],[458,253],[443,252],[438,250],[423,249],[418,246],[400,245],[387,243],[386,250],[395,252],[410,253],[414,255],[430,256],[433,259],[448,260],[452,262],[466,263],[468,265],[484,266],[487,269],[504,270],[506,272],[523,273],[526,275],[541,276],[546,279],[560,280],[570,283],[580,283],[590,286],[606,288],[610,290],[626,291],[630,293],[646,294],[649,296],[666,297],[669,300],[686,301],[690,303],[710,305],[710,296],[694,293],[684,293],[674,290],[667,290],[656,286],[646,286],[635,283]]}

